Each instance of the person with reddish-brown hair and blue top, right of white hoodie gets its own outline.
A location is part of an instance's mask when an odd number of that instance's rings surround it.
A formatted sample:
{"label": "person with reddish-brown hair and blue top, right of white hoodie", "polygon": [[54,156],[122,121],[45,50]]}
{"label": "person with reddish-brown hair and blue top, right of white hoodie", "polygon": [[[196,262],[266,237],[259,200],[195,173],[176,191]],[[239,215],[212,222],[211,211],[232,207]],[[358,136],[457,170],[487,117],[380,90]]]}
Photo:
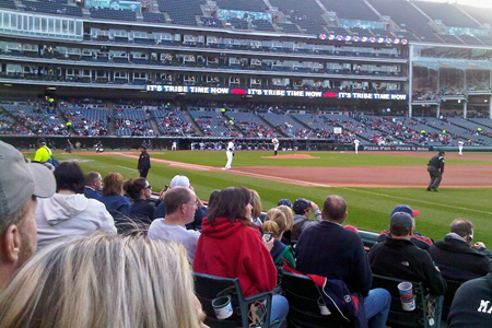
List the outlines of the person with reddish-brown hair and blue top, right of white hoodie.
{"label": "person with reddish-brown hair and blue top, right of white hoodie", "polygon": [[124,196],[124,177],[119,173],[108,173],[103,178],[103,197],[101,202],[113,218],[130,216],[131,201]]}

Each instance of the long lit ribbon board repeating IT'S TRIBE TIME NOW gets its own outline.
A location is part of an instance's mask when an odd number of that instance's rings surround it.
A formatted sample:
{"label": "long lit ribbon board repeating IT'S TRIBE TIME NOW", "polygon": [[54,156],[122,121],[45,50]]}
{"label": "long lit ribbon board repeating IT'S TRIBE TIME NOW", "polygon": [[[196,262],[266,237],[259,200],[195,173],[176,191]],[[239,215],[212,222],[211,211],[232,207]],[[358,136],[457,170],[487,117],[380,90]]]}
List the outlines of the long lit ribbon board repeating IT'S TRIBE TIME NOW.
{"label": "long lit ribbon board repeating IT'S TRIBE TIME NOW", "polygon": [[238,94],[238,95],[266,95],[285,97],[309,98],[339,98],[339,99],[378,99],[378,101],[407,101],[406,94],[368,93],[368,92],[331,92],[331,91],[305,91],[305,90],[272,90],[272,89],[233,89],[213,86],[189,85],[145,85],[148,92],[177,92],[196,94]]}

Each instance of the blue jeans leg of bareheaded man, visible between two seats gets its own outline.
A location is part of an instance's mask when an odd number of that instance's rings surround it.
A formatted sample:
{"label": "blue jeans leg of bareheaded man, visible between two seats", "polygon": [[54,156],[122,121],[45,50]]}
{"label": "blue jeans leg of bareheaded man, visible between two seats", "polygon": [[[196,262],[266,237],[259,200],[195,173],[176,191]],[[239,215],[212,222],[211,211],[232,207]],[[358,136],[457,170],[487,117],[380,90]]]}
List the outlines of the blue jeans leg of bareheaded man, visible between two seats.
{"label": "blue jeans leg of bareheaded man, visible between two seats", "polygon": [[364,298],[365,317],[368,328],[385,328],[388,319],[391,295],[385,289],[371,290]]}

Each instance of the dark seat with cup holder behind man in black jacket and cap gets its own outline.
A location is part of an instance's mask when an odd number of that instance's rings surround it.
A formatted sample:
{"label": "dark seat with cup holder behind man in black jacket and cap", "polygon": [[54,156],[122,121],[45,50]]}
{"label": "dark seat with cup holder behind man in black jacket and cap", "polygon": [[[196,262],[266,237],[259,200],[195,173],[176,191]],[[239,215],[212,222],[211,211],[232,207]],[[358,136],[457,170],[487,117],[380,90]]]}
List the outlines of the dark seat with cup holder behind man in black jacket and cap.
{"label": "dark seat with cup holder behind man in black jacket and cap", "polygon": [[398,291],[398,284],[402,281],[408,280],[373,274],[372,288],[382,288],[391,294],[391,306],[386,325],[390,327],[436,327],[437,320],[441,320],[441,318],[435,317],[440,306],[438,298],[426,296],[422,282],[410,281],[413,285],[415,309],[411,312],[403,311],[400,292]]}

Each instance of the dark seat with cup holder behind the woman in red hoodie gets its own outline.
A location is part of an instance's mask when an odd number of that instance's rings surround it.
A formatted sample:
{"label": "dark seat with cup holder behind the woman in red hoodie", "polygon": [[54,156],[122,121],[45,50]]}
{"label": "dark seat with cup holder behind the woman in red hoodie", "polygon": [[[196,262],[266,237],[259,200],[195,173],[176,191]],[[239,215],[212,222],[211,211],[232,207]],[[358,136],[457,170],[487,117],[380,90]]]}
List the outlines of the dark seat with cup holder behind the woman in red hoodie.
{"label": "dark seat with cup holder behind the woman in red hoodie", "polygon": [[[222,278],[194,272],[195,293],[207,315],[206,325],[212,328],[249,327],[253,316],[261,320],[256,327],[269,328],[271,314],[271,293],[265,292],[250,297],[244,297],[237,278]],[[212,301],[220,296],[231,296],[233,315],[227,319],[218,319]],[[260,309],[251,311],[251,305],[261,305]]]}

